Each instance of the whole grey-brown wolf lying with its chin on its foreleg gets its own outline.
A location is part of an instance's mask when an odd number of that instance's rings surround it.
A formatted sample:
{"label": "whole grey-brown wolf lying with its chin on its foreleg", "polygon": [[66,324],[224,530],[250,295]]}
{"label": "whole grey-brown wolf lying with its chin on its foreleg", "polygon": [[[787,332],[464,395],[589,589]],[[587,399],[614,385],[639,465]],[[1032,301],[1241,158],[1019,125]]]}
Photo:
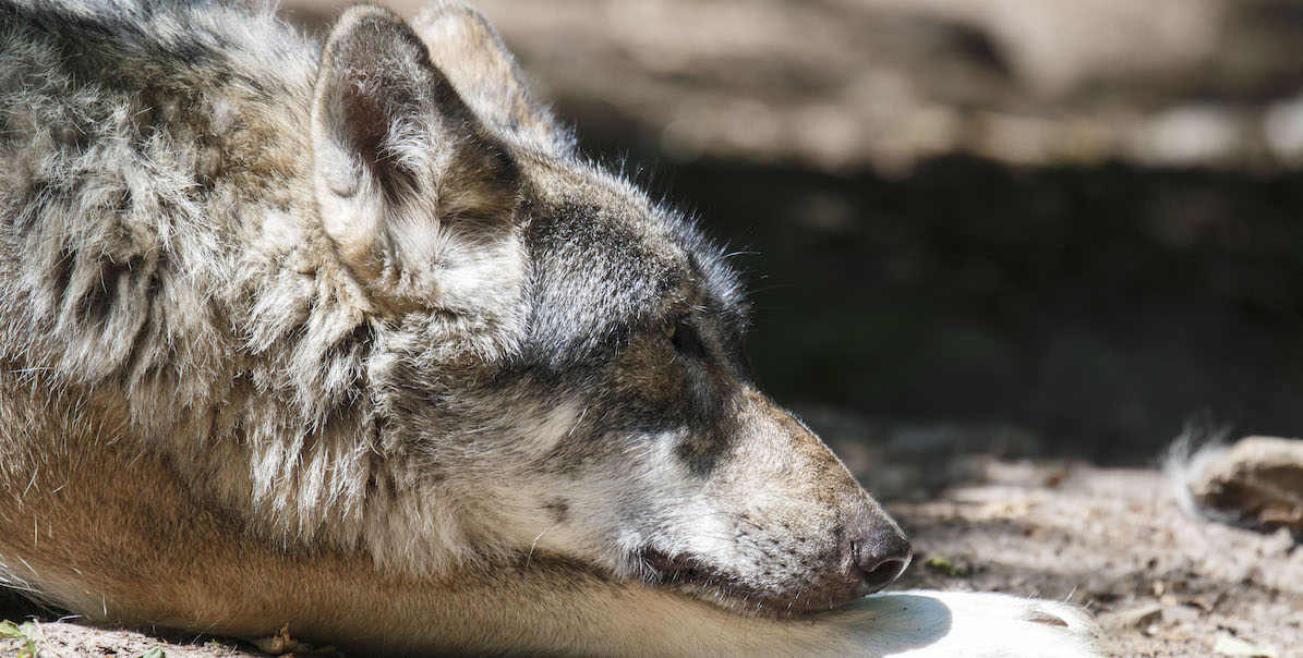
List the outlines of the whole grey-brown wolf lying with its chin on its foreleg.
{"label": "whole grey-brown wolf lying with its chin on its foreleg", "polygon": [[0,576],[380,654],[1084,657],[896,524],[473,9],[0,0]]}

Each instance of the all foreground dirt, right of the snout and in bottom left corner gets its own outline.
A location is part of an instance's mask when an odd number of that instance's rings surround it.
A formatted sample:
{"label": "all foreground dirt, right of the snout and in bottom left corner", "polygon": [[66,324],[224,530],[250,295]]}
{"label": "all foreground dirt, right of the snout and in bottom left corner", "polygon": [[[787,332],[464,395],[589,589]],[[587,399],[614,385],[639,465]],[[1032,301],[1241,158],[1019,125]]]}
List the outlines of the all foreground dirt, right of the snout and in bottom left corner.
{"label": "all foreground dirt, right of the snout and in bottom left corner", "polygon": [[[830,442],[913,541],[913,564],[893,589],[1080,603],[1121,657],[1303,655],[1303,550],[1287,534],[1191,519],[1157,469],[998,459],[1025,448],[998,431],[972,447],[956,446],[959,434],[945,427],[889,434],[847,443],[833,431]],[[50,614],[30,628],[43,658],[134,658],[155,648],[173,658],[265,655],[231,640],[94,629]],[[1235,640],[1259,653],[1234,653],[1243,650]],[[0,640],[0,655],[21,646]]]}

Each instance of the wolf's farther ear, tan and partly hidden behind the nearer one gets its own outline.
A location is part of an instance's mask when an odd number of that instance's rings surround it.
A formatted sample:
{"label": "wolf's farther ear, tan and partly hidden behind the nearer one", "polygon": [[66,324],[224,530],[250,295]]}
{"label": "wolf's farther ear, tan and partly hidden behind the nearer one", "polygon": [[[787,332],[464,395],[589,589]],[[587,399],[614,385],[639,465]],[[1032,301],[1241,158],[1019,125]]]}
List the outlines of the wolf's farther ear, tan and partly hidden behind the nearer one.
{"label": "wolf's farther ear, tan and partly hidden behind the nearer one", "polygon": [[430,59],[483,121],[539,151],[567,155],[575,137],[525,85],[498,31],[459,0],[435,0],[412,20]]}

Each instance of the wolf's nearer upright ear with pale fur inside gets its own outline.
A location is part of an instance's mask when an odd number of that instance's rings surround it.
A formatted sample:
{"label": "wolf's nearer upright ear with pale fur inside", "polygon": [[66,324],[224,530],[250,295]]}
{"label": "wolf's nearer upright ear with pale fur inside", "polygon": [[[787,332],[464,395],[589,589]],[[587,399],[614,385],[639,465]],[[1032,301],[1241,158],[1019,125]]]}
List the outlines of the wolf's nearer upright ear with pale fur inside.
{"label": "wolf's nearer upright ear with pale fur inside", "polygon": [[367,283],[410,284],[448,265],[459,244],[511,225],[515,163],[387,9],[357,5],[335,23],[311,142],[322,227]]}

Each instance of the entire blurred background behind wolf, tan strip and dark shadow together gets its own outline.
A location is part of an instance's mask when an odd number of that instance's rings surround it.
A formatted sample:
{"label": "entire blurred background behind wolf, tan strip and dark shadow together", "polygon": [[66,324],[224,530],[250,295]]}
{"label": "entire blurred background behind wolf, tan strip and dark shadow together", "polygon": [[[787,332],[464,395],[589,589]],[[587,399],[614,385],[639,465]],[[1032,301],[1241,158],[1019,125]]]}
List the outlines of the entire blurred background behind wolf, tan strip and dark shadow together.
{"label": "entire blurred background behind wolf, tan strip and dark shadow together", "polygon": [[1303,4],[474,4],[589,154],[743,251],[758,378],[834,443],[1303,431]]}

